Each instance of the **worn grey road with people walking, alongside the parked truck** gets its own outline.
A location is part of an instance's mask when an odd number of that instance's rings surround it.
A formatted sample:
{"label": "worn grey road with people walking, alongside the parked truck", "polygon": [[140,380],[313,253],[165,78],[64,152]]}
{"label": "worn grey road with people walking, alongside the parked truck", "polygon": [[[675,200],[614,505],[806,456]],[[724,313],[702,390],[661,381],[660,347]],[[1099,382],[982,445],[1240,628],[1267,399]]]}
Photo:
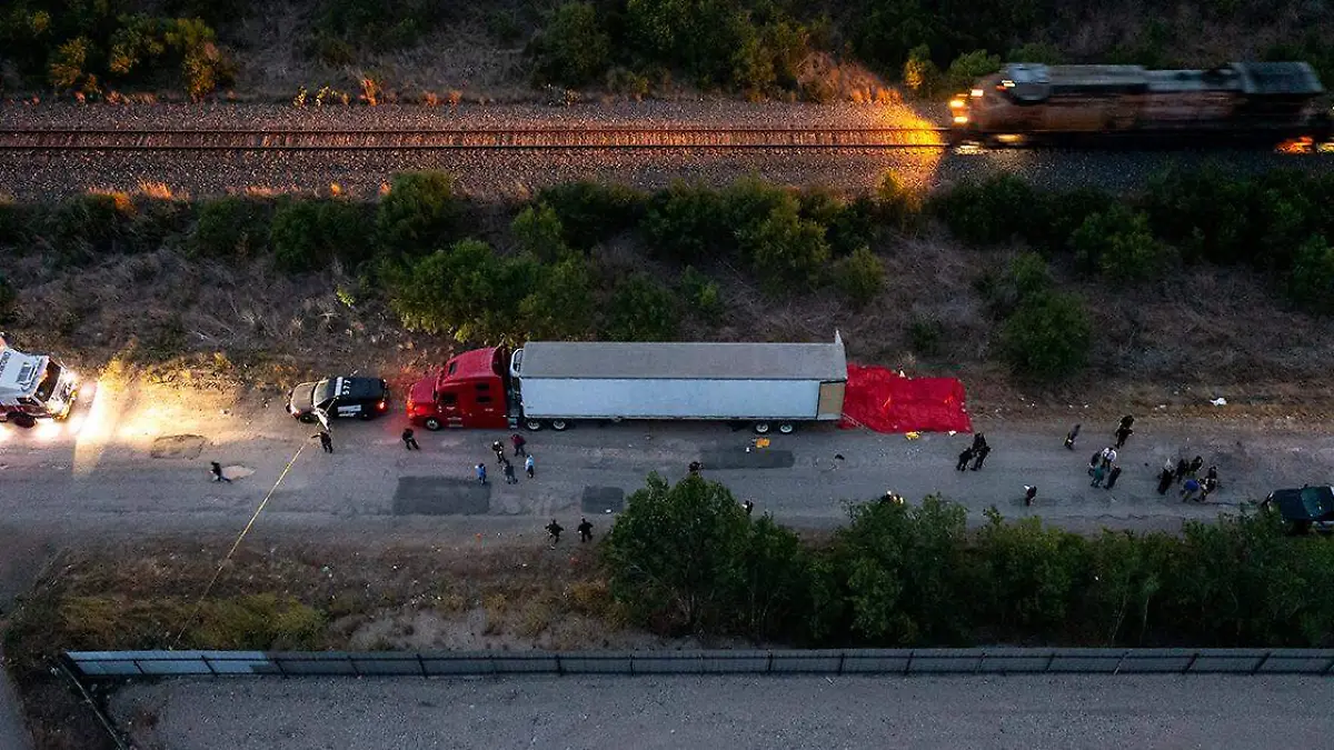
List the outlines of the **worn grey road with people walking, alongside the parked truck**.
{"label": "worn grey road with people walking, alongside the parked truck", "polygon": [[[911,500],[940,492],[967,506],[975,522],[995,504],[1007,516],[1035,514],[1075,530],[1177,528],[1182,519],[1211,519],[1279,484],[1325,480],[1334,468],[1330,435],[1181,424],[1153,415],[1139,419],[1121,452],[1125,474],[1111,491],[1090,487],[1086,474],[1090,454],[1110,440],[1111,424],[1085,424],[1078,448],[1066,451],[1065,422],[978,419],[994,451],[982,471],[958,472],[955,456],[967,435],[908,440],[822,427],[774,435],[767,448],[747,452],[752,435],[723,424],[627,423],[530,434],[536,478],[524,478],[520,466],[520,480],[506,484],[488,450],[506,434],[419,431],[422,450],[410,452],[398,436],[403,419],[394,414],[335,422],[335,452],[324,454],[311,439],[316,428],[292,420],[280,400],[225,394],[172,400],[107,390],[88,414],[59,428],[0,426],[3,531],[24,538],[24,531],[43,530],[239,530],[276,484],[259,522],[268,528],[540,534],[552,516],[572,527],[580,514],[616,510],[650,471],[676,479],[696,459],[738,499],[754,499],[760,512],[803,528],[834,527],[844,519],[843,500],[887,488]],[[1154,491],[1166,458],[1197,454],[1219,467],[1222,488],[1210,503],[1186,504],[1175,490],[1166,496]],[[225,466],[233,482],[211,482],[211,460]],[[474,480],[478,462],[488,464],[488,486]],[[1025,484],[1039,488],[1033,508],[1022,503]]]}

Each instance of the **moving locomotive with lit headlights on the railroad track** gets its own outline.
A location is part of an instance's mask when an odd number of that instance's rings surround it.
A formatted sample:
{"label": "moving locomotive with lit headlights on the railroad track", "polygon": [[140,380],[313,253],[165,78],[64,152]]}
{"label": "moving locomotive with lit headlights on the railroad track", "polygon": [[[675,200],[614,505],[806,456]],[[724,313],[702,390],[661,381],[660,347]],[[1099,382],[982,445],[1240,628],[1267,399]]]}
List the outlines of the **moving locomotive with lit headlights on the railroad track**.
{"label": "moving locomotive with lit headlights on the railroad track", "polygon": [[955,96],[950,115],[955,141],[987,145],[1125,136],[1325,143],[1331,112],[1322,93],[1306,63],[1209,71],[1010,63]]}

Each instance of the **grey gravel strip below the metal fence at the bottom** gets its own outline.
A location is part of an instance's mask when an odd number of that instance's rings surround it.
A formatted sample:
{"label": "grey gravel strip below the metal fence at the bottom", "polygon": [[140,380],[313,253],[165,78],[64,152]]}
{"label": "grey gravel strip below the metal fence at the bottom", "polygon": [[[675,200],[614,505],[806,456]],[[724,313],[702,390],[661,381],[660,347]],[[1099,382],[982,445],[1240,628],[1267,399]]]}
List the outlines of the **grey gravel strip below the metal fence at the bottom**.
{"label": "grey gravel strip below the metal fence at the bottom", "polygon": [[1326,746],[1331,699],[1277,677],[255,679],[136,685],[112,711],[167,750],[1255,749]]}

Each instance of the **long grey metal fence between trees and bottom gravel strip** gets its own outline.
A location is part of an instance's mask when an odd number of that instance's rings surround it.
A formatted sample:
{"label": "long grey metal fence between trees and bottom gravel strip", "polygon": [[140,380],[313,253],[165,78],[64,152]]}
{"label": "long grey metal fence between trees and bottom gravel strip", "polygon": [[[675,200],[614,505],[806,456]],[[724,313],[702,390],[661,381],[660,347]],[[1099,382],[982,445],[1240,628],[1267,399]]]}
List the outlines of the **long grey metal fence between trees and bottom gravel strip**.
{"label": "long grey metal fence between trees and bottom gravel strip", "polygon": [[1334,674],[1334,649],[854,649],[712,651],[69,651],[84,678],[508,674]]}

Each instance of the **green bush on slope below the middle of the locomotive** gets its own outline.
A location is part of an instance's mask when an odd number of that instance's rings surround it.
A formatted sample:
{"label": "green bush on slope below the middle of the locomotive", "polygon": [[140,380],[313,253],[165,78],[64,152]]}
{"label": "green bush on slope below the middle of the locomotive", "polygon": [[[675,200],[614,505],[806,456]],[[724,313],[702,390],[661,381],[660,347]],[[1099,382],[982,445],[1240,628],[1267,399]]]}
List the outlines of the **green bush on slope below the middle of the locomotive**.
{"label": "green bush on slope below the middle of the locomotive", "polygon": [[1149,216],[1121,204],[1085,219],[1070,235],[1070,247],[1081,266],[1122,283],[1153,279],[1166,264]]}

